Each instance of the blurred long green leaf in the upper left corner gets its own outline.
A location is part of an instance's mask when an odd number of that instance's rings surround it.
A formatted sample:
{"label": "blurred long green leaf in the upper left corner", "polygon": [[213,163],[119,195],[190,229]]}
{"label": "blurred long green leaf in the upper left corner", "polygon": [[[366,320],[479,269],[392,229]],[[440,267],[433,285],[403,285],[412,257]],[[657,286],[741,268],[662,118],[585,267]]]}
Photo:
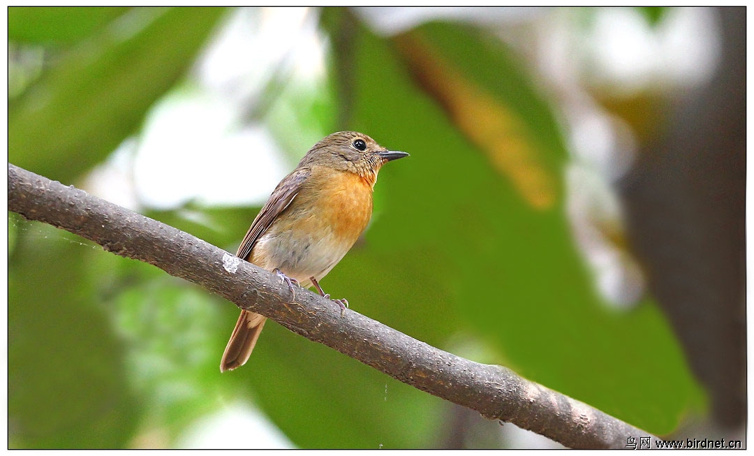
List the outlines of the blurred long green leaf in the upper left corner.
{"label": "blurred long green leaf in the upper left corner", "polygon": [[82,42],[8,107],[8,159],[72,182],[182,77],[222,8],[136,8]]}

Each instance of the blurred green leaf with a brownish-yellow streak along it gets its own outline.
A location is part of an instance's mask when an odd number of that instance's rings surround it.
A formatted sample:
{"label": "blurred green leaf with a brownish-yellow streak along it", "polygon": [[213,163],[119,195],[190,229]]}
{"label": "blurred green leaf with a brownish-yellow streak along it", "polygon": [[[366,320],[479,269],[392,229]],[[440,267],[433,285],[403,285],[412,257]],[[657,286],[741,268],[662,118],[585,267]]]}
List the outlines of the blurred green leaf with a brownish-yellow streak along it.
{"label": "blurred green leaf with a brownish-yellow streak along it", "polygon": [[489,38],[471,27],[430,23],[394,41],[455,127],[530,205],[548,209],[562,199],[559,129],[510,52]]}

